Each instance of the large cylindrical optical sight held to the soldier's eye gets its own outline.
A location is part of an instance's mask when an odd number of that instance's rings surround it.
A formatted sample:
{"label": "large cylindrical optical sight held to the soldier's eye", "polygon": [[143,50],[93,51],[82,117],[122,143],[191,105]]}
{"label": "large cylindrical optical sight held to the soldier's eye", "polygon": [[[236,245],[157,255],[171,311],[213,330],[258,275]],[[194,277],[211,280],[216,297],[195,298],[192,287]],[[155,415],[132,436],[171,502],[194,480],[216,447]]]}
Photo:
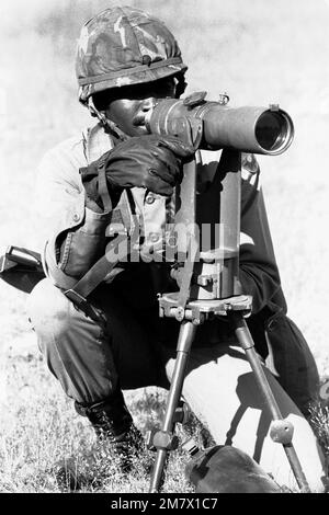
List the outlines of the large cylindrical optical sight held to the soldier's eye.
{"label": "large cylindrical optical sight held to the soldier's eye", "polygon": [[292,118],[279,105],[228,107],[204,96],[202,92],[185,100],[161,100],[146,114],[146,127],[151,134],[177,136],[206,150],[235,148],[277,156],[292,144]]}

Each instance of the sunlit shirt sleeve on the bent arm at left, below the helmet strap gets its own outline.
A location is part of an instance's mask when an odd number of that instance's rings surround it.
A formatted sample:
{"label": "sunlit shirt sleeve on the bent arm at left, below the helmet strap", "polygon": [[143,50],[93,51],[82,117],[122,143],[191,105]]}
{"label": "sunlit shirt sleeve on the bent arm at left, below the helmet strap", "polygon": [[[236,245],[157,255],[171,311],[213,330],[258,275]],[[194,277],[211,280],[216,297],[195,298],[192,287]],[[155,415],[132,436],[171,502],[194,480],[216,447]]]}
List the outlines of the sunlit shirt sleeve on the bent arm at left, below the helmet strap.
{"label": "sunlit shirt sleeve on the bent arm at left, below the helmet strap", "polygon": [[86,206],[79,169],[87,165],[81,141],[47,152],[37,171],[37,214],[45,234],[45,272],[70,288],[104,253],[111,213]]}

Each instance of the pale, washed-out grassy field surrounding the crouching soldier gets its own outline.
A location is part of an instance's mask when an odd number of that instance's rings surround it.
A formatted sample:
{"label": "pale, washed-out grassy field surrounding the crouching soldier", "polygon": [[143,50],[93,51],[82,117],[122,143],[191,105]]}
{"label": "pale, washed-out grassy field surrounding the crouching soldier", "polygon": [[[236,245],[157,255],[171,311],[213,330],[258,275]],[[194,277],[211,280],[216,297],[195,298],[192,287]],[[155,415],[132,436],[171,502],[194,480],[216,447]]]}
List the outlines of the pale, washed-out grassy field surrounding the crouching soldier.
{"label": "pale, washed-out grassy field surrounding the crouching soldier", "polygon": [[[82,22],[116,3],[30,0],[26,10],[22,0],[13,0],[2,7],[0,252],[9,244],[42,247],[47,231],[34,216],[35,168],[46,149],[89,123],[76,100],[75,41]],[[207,90],[216,99],[227,91],[234,105],[280,102],[292,115],[296,136],[291,149],[259,160],[290,316],[309,342],[321,377],[329,376],[328,5],[321,0],[131,4],[152,11],[177,34],[190,65],[188,92]],[[0,284],[0,491],[56,492],[53,464],[79,454],[92,433],[46,370],[25,300],[24,294]],[[143,432],[159,422],[162,391],[127,392],[127,398]],[[315,404],[311,423],[328,453],[328,407]],[[178,453],[174,458],[166,489],[186,492],[185,457]],[[147,488],[147,478],[137,473],[127,480],[114,474],[94,490]]]}

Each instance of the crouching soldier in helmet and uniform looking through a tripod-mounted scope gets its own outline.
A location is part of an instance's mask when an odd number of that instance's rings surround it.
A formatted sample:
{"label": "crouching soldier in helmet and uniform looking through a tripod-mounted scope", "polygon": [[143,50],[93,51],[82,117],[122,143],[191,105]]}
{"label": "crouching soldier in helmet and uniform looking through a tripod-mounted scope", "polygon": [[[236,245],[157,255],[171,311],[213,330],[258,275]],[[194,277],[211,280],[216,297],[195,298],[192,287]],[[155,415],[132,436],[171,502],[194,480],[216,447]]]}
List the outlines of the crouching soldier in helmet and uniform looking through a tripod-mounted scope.
{"label": "crouching soldier in helmet and uniform looking through a tripod-mounted scope", "polygon": [[[186,69],[177,41],[159,20],[127,7],[95,15],[81,32],[77,76],[79,100],[97,123],[48,151],[39,167],[41,218],[49,236],[47,278],[30,296],[32,323],[50,371],[124,470],[134,449],[143,448],[143,436],[122,391],[168,388],[171,379],[179,324],[159,319],[156,294],[172,289],[173,282],[166,264],[140,260],[104,273],[86,305],[77,306],[64,291],[104,255],[117,222],[129,230],[132,211],[140,224],[141,254],[159,244],[182,164],[193,149],[173,137],[149,135],[144,122],[155,102],[180,98]],[[198,160],[204,169],[206,152]],[[264,363],[275,364],[273,374],[265,368],[269,381],[283,415],[294,423],[306,477],[319,491],[321,454],[299,411],[314,396],[317,370],[306,342],[285,317],[258,163],[253,156],[242,161],[240,282],[253,297],[250,329]],[[227,324],[198,329],[183,394],[217,443],[239,447],[279,483],[293,484]]]}

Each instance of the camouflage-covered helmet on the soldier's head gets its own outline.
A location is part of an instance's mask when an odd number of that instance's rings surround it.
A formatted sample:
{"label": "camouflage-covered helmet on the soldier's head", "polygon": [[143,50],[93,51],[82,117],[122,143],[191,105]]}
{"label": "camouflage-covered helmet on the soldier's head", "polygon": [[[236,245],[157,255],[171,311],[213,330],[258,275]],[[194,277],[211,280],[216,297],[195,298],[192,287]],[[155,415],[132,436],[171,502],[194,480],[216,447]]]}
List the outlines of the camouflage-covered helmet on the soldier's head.
{"label": "camouflage-covered helmet on the soldier's head", "polygon": [[76,72],[82,103],[104,90],[180,77],[186,69],[171,32],[138,9],[106,9],[81,30]]}

